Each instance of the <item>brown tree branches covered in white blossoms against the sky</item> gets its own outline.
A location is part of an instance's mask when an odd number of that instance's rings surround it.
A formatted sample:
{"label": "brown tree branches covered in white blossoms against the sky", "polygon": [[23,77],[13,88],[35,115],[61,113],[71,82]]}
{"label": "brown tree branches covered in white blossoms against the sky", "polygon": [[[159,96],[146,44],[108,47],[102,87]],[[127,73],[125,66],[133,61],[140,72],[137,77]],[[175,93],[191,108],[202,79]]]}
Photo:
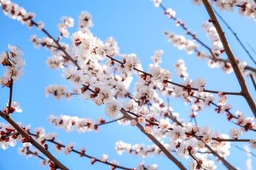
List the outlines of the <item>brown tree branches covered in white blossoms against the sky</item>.
{"label": "brown tree branches covered in white blossoms against the sky", "polygon": [[[211,41],[211,46],[188,29],[183,19],[178,18],[179,14],[175,12],[175,9],[165,7],[161,0],[154,0],[155,7],[162,9],[163,14],[170,19],[169,22],[173,20],[175,25],[184,31],[184,35],[188,35],[188,38],[172,31],[164,31],[164,36],[179,50],[185,50],[188,55],[196,54],[196,58],[207,60],[209,67],[220,68],[223,74],[234,73],[240,86],[238,92],[209,89],[205,78],[190,79],[183,59],[172,63],[176,75],[182,81],[172,80],[173,67],[167,69],[161,67],[163,50],[155,50],[150,58],[151,63],[148,69],[144,69],[146,66],[141,64],[136,54],[120,52],[114,37],[102,41],[93,35],[91,32],[93,17],[89,12],[81,12],[78,31],[74,33],[69,31],[69,28],[75,25],[74,19],[63,16],[61,23],[58,24],[59,36],[54,37],[47,30],[44,22],[37,22],[35,13],[27,12],[26,9],[9,0],[0,0],[3,14],[29,28],[36,27],[45,35],[41,38],[32,35],[30,41],[35,48],[44,47],[51,52],[53,56],[47,58],[47,66],[50,69],[61,70],[61,77],[72,87],[68,90],[70,86],[49,84],[44,90],[46,97],[51,95],[58,100],[80,98],[93,101],[95,107],[104,107],[105,113],[102,115],[108,116],[107,119],[100,116],[93,120],[68,115],[68,113],[60,116],[51,114],[48,116],[50,124],[67,133],[73,130],[79,133],[99,131],[100,127],[104,128],[110,124],[133,127],[134,131],[140,131],[142,135],[150,139],[152,144],[144,146],[144,144],[116,141],[115,150],[118,154],[127,152],[142,158],[161,156],[172,164],[170,167],[161,167],[154,162],[146,164],[141,161],[139,165],[130,163],[127,166],[127,163],[110,160],[107,153],[102,153],[102,156],[97,157],[93,155],[93,152],[87,153],[87,147],[77,148],[75,141],[72,141],[70,137],[68,143],[62,143],[58,140],[59,135],[56,132],[47,133],[44,127],[36,127],[36,122],[31,122],[30,126],[14,120],[12,115],[18,114],[17,112],[24,112],[24,114],[28,112],[28,110],[22,110],[22,104],[20,104],[22,101],[14,101],[12,98],[15,94],[14,86],[18,86],[16,82],[24,74],[26,75],[24,65],[29,52],[21,49],[22,44],[14,45],[11,42],[1,44],[5,45],[7,50],[0,56],[0,63],[5,68],[5,71],[1,73],[0,83],[3,89],[9,92],[7,106],[0,111],[1,118],[5,120],[0,123],[0,146],[5,150],[4,152],[8,152],[9,146],[16,146],[16,143],[20,142],[23,145],[18,149],[19,154],[38,158],[41,166],[47,165],[49,169],[74,169],[66,165],[67,163],[61,158],[59,159],[58,154],[56,156],[56,153],[60,152],[66,156],[71,156],[71,153],[77,154],[84,159],[89,159],[92,165],[102,163],[106,169],[108,167],[110,169],[148,170],[218,169],[217,163],[222,164],[226,169],[238,169],[237,165],[230,163],[228,156],[234,144],[244,143],[244,148],[240,150],[248,154],[246,165],[247,169],[250,169],[250,159],[253,155],[250,148],[252,150],[256,148],[256,126],[253,121],[256,118],[256,107],[252,97],[255,92],[249,90],[247,83],[253,84],[255,91],[255,60],[237,36],[245,54],[251,58],[252,64],[247,65],[245,61],[235,57],[216,10],[238,10],[239,14],[253,22],[256,20],[255,1],[193,0],[190,3],[202,5],[209,14],[209,20],[203,22],[202,28]],[[223,57],[224,54],[227,58]],[[29,59],[26,58],[26,60]],[[242,110],[232,110],[232,103],[228,103],[229,96],[242,97],[250,112],[244,114],[243,107],[241,107]],[[190,105],[189,114],[184,116],[184,114],[173,112],[175,105],[169,102],[173,98]],[[211,128],[207,125],[209,123],[207,121],[211,120],[197,121],[200,116],[198,113],[207,108],[213,110],[215,114],[226,115],[225,120],[223,116],[222,118],[221,115],[219,116],[227,126],[230,126],[229,131]],[[183,119],[182,116],[189,119]],[[249,135],[244,137],[246,133]],[[188,160],[182,161],[186,159]]]}

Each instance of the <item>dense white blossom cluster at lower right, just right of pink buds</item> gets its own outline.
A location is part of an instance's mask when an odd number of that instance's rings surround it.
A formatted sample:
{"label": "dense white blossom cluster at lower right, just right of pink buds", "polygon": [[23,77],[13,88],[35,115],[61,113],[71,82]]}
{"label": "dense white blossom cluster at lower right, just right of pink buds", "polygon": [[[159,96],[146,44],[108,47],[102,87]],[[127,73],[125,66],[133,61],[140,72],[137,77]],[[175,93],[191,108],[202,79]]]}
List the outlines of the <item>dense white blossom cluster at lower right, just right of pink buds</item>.
{"label": "dense white blossom cluster at lower right, just right of pink buds", "polygon": [[[192,135],[189,134],[194,134],[202,140],[192,138]],[[217,131],[213,133],[209,126],[198,127],[188,123],[184,124],[183,127],[175,126],[172,130],[167,131],[166,135],[171,139],[169,141],[171,150],[177,149],[176,154],[179,158],[188,158],[188,154],[194,155],[197,152],[205,152],[207,150],[206,144],[223,157],[230,154],[230,142],[213,140],[213,138],[228,139],[228,135],[221,135]]]}

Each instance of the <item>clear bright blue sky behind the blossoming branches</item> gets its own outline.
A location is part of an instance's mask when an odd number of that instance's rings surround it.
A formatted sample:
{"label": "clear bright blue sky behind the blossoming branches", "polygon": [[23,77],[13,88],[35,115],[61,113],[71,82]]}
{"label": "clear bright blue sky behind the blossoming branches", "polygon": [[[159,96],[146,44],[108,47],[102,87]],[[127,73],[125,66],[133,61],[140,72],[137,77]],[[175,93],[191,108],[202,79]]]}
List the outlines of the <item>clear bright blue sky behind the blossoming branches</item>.
{"label": "clear bright blue sky behind the blossoming branches", "polygon": [[[207,61],[196,59],[194,54],[187,55],[186,52],[177,50],[163,35],[163,31],[173,31],[177,34],[184,35],[181,27],[176,27],[173,20],[169,20],[167,16],[163,15],[163,10],[154,7],[153,3],[149,0],[135,1],[13,1],[24,7],[27,11],[35,12],[35,21],[43,21],[45,29],[47,29],[53,37],[58,37],[57,24],[60,23],[62,16],[71,16],[75,19],[75,26],[70,30],[70,33],[77,31],[78,16],[81,11],[86,10],[93,16],[94,27],[91,29],[93,35],[99,37],[103,41],[107,37],[114,37],[118,46],[120,47],[121,54],[135,53],[140,58],[144,70],[148,69],[148,64],[151,63],[150,56],[154,55],[155,50],[163,49],[163,63],[161,67],[167,68],[174,72],[174,63],[179,59],[186,61],[186,67],[190,78],[205,78],[207,83],[205,88],[208,90],[226,91],[226,92],[240,92],[238,81],[234,73],[225,75],[221,69],[210,69],[207,67]],[[209,19],[205,9],[194,7],[188,1],[163,1],[163,5],[177,12],[177,18],[181,18],[186,22],[187,27],[192,31],[196,31],[198,38],[208,44],[210,41],[207,39],[202,30],[202,23]],[[223,18],[230,24],[242,42],[250,44],[256,48],[255,43],[255,22],[251,19],[244,18],[238,15],[237,10],[231,12],[221,12]],[[56,131],[58,133],[57,140],[62,141],[64,144],[74,142],[75,148],[87,147],[87,154],[100,158],[102,154],[108,154],[109,160],[119,161],[119,165],[126,167],[137,167],[138,163],[143,158],[138,156],[129,156],[125,153],[119,156],[114,150],[115,143],[119,140],[125,143],[145,143],[145,146],[151,144],[146,137],[140,133],[136,127],[122,127],[117,124],[102,126],[102,129],[95,133],[77,133],[72,131],[70,133],[64,132],[62,129],[56,129],[49,124],[47,117],[50,114],[56,116],[60,114],[67,114],[70,116],[78,116],[85,118],[93,118],[96,120],[99,116],[103,116],[106,120],[110,120],[104,114],[104,107],[96,107],[90,101],[83,101],[82,99],[73,98],[72,101],[65,101],[64,99],[57,101],[53,97],[45,98],[44,90],[49,84],[65,84],[72,89],[68,82],[61,78],[61,71],[51,70],[47,67],[45,59],[51,56],[50,52],[44,48],[39,50],[33,48],[33,44],[28,41],[30,35],[36,34],[37,37],[45,36],[38,31],[35,27],[28,29],[26,25],[20,24],[16,20],[8,18],[3,13],[0,13],[0,52],[8,50],[7,45],[16,44],[20,46],[24,52],[24,59],[26,59],[26,66],[24,67],[24,76],[14,84],[14,101],[20,102],[23,112],[15,113],[12,118],[17,122],[23,122],[25,125],[31,124],[32,129],[35,127],[45,127],[47,132]],[[221,23],[223,25],[223,23]],[[223,26],[225,35],[230,43],[230,47],[234,52],[234,56],[242,58],[247,61],[248,65],[254,66],[253,62],[249,59],[244,50],[238,44],[232,33]],[[189,36],[186,38],[190,39]],[[70,44],[69,39],[64,39],[64,42]],[[246,45],[245,45],[246,46]],[[201,47],[201,49],[203,49]],[[251,51],[250,51],[251,52]],[[251,52],[253,54],[253,52]],[[253,54],[255,57],[255,54]],[[225,55],[223,55],[226,58]],[[256,57],[255,57],[256,58]],[[4,68],[0,67],[0,73],[4,73]],[[180,83],[182,80],[173,73],[172,80]],[[249,78],[245,78],[247,86],[253,99],[255,97],[255,90]],[[133,88],[131,88],[133,90]],[[9,91],[7,88],[0,89],[0,103],[1,107],[5,107],[9,98]],[[166,100],[166,99],[165,99]],[[232,112],[240,110],[247,116],[253,116],[249,110],[247,103],[240,96],[228,96],[228,103],[232,105]],[[170,104],[175,110],[181,114],[181,118],[188,121],[189,106],[184,106],[181,99],[173,98]],[[209,119],[211,121],[209,121]],[[226,121],[225,115],[216,114],[213,107],[205,109],[199,113],[197,118],[199,126],[209,125],[214,131],[228,134],[228,131],[234,126],[231,122]],[[1,121],[0,121],[1,122]],[[242,139],[249,137],[256,138],[255,133],[245,133]],[[242,147],[245,143],[237,144]],[[49,144],[51,147],[51,144]],[[17,153],[17,148],[21,146],[18,143],[14,148],[10,147],[8,150],[0,150],[0,169],[41,169],[39,167],[39,159],[37,158],[24,158]],[[245,169],[245,152],[232,148],[231,155],[227,160],[235,167]],[[252,150],[256,153],[255,150]],[[70,156],[64,154],[53,154],[64,165],[70,169],[108,169],[102,163],[90,165],[87,158],[79,158],[74,153]],[[4,158],[4,159],[3,159]],[[255,157],[252,157],[255,160]],[[163,156],[148,158],[144,160],[145,163],[157,163],[159,169],[176,169],[175,165],[163,158]],[[189,160],[182,160],[184,165],[188,165]],[[217,163],[217,162],[216,162]],[[218,169],[224,168],[223,165],[218,165]],[[252,163],[256,167],[256,161]],[[45,167],[48,169],[48,167]]]}

